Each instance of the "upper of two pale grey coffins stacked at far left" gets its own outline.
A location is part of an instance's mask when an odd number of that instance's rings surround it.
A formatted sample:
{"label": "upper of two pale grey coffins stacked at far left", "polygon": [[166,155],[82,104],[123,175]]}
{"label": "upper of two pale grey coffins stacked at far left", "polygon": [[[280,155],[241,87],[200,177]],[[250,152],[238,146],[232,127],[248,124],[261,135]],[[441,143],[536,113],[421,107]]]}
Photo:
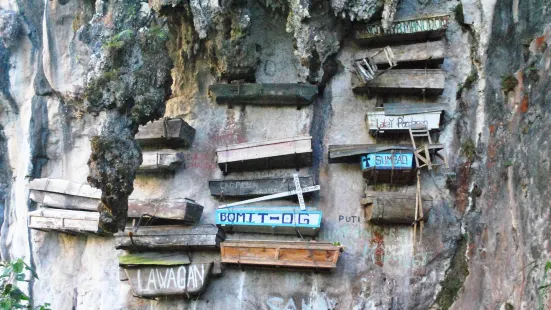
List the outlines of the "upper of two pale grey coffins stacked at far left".
{"label": "upper of two pale grey coffins stacked at far left", "polygon": [[34,179],[29,189],[32,201],[52,208],[97,211],[101,199],[100,189],[61,179]]}

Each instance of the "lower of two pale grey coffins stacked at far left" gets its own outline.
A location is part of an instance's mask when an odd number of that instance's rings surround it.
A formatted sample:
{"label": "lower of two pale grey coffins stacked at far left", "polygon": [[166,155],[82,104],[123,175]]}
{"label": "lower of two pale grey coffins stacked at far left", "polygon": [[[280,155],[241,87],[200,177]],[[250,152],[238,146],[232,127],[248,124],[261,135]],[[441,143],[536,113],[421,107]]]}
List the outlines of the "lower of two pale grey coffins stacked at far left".
{"label": "lower of two pale grey coffins stacked at far left", "polygon": [[29,228],[67,233],[103,234],[99,212],[39,209],[29,212]]}

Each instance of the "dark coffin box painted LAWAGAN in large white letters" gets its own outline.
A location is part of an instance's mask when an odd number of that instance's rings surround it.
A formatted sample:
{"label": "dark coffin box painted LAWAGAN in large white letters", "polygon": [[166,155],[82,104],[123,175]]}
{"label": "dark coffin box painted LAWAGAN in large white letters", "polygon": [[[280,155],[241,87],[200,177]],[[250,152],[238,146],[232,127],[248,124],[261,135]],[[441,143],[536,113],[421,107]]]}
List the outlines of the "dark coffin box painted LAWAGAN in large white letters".
{"label": "dark coffin box painted LAWAGAN in large white letters", "polygon": [[197,295],[210,280],[213,262],[194,262],[177,266],[141,266],[125,268],[132,291],[137,297]]}

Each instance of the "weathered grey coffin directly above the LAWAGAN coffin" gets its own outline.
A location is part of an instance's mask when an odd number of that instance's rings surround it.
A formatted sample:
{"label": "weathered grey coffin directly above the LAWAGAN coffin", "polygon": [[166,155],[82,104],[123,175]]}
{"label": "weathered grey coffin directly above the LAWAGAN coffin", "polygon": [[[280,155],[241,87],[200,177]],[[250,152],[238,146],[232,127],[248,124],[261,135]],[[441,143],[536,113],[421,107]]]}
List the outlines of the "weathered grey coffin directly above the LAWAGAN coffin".
{"label": "weathered grey coffin directly above the LAWAGAN coffin", "polygon": [[182,248],[217,248],[226,238],[214,225],[199,226],[129,226],[115,235],[116,249],[173,250]]}

